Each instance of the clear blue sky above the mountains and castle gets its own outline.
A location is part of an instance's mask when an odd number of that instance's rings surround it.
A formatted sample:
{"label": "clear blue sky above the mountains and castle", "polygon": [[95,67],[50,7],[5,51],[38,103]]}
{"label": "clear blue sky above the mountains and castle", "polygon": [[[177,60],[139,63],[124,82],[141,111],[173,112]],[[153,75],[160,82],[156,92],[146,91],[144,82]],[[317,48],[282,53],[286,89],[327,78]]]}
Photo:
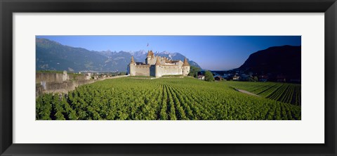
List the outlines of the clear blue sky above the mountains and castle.
{"label": "clear blue sky above the mountains and castle", "polygon": [[[90,51],[169,51],[206,70],[231,70],[270,46],[300,46],[300,36],[37,36]],[[147,46],[149,44],[149,46]]]}

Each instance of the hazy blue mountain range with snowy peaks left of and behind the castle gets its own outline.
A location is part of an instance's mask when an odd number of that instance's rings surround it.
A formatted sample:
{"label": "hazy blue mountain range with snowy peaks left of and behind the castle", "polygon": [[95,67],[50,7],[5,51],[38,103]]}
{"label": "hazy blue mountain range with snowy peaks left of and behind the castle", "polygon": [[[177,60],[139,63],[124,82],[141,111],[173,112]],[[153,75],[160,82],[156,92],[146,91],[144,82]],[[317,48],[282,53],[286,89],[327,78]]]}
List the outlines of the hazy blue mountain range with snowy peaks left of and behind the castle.
{"label": "hazy blue mountain range with snowy peaks left of and behind the castle", "polygon": [[[85,48],[65,46],[49,39],[36,39],[36,70],[119,71],[126,72],[131,56],[137,62],[145,62],[147,51],[89,51]],[[181,53],[155,52],[155,56],[165,56],[172,60],[184,60]],[[188,59],[190,65],[200,67]]]}

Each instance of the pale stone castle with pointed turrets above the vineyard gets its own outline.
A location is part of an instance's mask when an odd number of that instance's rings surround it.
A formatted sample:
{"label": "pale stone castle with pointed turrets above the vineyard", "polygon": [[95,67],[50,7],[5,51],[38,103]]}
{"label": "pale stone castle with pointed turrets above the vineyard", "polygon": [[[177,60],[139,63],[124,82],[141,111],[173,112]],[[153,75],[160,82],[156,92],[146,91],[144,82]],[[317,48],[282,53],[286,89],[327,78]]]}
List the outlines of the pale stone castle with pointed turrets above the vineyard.
{"label": "pale stone castle with pointed turrets above the vineyard", "polygon": [[152,51],[148,51],[145,63],[135,62],[131,56],[131,63],[128,65],[130,76],[151,76],[162,77],[164,75],[183,75],[190,72],[190,64],[185,58],[181,60],[170,60],[166,57],[154,56]]}

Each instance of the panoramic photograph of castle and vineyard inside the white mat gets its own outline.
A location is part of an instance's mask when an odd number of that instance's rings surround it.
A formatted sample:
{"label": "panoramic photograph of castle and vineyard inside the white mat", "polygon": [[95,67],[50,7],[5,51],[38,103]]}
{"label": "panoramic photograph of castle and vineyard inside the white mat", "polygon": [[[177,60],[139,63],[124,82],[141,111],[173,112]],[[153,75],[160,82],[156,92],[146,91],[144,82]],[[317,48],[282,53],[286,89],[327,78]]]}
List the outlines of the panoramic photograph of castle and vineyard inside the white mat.
{"label": "panoramic photograph of castle and vineyard inside the white mat", "polygon": [[36,36],[37,120],[300,120],[300,36]]}

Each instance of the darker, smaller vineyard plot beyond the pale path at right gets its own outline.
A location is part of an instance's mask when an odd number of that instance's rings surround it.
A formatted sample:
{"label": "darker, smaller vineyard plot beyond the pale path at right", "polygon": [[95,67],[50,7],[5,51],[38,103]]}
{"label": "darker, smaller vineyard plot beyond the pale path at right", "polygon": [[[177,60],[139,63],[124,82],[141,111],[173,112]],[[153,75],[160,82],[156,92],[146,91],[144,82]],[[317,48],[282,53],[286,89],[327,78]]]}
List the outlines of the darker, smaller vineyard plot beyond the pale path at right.
{"label": "darker, smaller vineyard plot beyond the pale path at right", "polygon": [[275,82],[226,82],[226,84],[272,100],[300,105],[300,84]]}

